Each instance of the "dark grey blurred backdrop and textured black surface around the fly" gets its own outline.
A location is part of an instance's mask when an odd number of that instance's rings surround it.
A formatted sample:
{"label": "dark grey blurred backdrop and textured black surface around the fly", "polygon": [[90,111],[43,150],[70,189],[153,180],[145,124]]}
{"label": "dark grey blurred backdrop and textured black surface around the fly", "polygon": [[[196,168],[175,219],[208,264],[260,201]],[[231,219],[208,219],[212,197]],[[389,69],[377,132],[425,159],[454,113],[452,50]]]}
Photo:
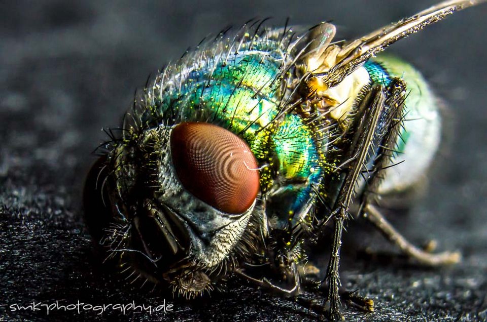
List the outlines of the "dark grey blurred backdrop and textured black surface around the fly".
{"label": "dark grey blurred backdrop and textured black surface around the fly", "polygon": [[[247,286],[210,299],[173,301],[166,314],[11,312],[11,304],[153,305],[163,297],[131,288],[100,266],[82,221],[90,153],[117,127],[150,72],[228,24],[272,16],[283,25],[333,20],[360,35],[433,1],[0,2],[0,320],[305,320],[291,300]],[[416,244],[437,239],[462,264],[426,269],[358,256],[394,250],[358,220],[349,225],[344,285],[375,300],[376,313],[349,320],[487,319],[487,6],[457,13],[391,48],[422,70],[448,107],[449,144],[435,159],[429,193],[391,220]],[[318,256],[325,265],[328,254]]]}

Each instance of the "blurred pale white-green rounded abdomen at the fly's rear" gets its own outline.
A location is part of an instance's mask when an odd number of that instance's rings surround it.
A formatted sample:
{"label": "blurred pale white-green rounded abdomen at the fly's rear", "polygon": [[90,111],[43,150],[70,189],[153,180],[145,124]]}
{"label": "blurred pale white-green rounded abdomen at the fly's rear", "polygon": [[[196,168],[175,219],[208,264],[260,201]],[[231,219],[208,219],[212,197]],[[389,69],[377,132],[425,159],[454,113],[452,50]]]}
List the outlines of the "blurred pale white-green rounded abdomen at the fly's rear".
{"label": "blurred pale white-green rounded abdomen at the fly's rear", "polygon": [[377,55],[365,63],[372,84],[388,87],[394,77],[406,82],[403,126],[391,161],[378,187],[379,194],[405,191],[424,179],[438,150],[441,117],[438,104],[423,75],[410,64],[389,55]]}

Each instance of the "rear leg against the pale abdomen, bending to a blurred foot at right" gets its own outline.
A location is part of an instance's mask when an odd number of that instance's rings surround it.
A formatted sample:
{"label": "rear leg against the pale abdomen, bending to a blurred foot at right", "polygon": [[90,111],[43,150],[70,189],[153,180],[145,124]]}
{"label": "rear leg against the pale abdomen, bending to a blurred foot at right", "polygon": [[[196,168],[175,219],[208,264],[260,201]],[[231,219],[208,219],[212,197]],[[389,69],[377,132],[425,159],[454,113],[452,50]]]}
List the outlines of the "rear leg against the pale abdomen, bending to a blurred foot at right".
{"label": "rear leg against the pale abdomen, bending to a blurred foot at right", "polygon": [[387,168],[396,146],[399,130],[402,126],[404,115],[406,84],[401,78],[394,78],[389,86],[389,95],[386,106],[389,111],[384,120],[384,134],[378,147],[378,153],[374,160],[375,171],[367,178],[367,187],[362,195],[361,214],[371,222],[382,234],[396,245],[404,254],[417,260],[419,263],[429,266],[458,263],[461,255],[458,252],[443,252],[432,254],[419,249],[408,242],[380,213],[376,207],[376,194],[383,179],[384,172],[381,169]]}

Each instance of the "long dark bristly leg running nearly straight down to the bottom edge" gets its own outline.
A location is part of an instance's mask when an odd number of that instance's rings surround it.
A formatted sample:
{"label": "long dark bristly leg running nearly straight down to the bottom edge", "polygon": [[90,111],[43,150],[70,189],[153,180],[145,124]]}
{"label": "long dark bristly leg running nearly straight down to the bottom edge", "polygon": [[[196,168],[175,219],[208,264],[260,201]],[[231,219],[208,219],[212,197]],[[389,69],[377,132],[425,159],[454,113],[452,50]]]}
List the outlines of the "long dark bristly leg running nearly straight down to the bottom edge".
{"label": "long dark bristly leg running nearly straight down to the bottom edge", "polygon": [[341,286],[338,273],[340,260],[341,235],[344,221],[349,217],[349,207],[354,196],[359,175],[364,169],[367,153],[376,137],[376,129],[380,116],[385,108],[387,92],[383,86],[374,86],[362,100],[356,119],[356,131],[353,135],[350,147],[349,170],[346,171],[338,197],[333,207],[331,218],[335,228],[333,233],[333,249],[327,268],[326,280],[328,281],[328,301],[330,302],[330,315],[332,319],[343,319],[340,312]]}

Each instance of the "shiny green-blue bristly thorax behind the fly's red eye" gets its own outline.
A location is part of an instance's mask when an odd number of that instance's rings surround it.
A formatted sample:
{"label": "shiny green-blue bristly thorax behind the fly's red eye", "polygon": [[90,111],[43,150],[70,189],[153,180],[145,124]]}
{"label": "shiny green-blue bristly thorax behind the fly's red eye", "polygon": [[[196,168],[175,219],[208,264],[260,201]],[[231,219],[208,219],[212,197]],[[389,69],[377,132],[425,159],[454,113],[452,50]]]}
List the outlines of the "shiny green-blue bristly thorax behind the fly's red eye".
{"label": "shiny green-blue bristly thorax behind the fly's red eye", "polygon": [[197,64],[181,66],[175,77],[156,82],[143,123],[210,122],[232,131],[258,160],[263,195],[291,191],[284,213],[296,213],[322,176],[316,129],[298,114],[283,113],[289,58],[282,39],[250,44],[243,42],[237,52],[202,55]]}

